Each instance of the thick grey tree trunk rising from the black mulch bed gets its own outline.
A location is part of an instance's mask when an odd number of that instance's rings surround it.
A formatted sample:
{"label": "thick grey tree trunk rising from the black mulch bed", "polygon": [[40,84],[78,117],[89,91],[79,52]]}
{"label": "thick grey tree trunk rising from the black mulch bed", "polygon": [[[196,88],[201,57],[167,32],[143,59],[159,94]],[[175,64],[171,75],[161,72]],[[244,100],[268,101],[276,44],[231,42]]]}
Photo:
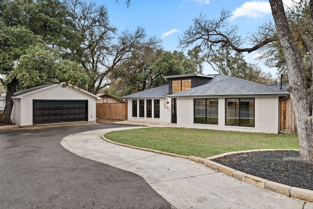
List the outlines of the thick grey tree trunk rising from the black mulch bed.
{"label": "thick grey tree trunk rising from the black mulch bed", "polygon": [[[312,1],[312,0],[311,0]],[[313,161],[313,129],[312,111],[304,68],[297,46],[292,39],[282,0],[269,0],[273,18],[276,24],[277,38],[283,51],[289,76],[288,91],[298,128],[300,158]]]}

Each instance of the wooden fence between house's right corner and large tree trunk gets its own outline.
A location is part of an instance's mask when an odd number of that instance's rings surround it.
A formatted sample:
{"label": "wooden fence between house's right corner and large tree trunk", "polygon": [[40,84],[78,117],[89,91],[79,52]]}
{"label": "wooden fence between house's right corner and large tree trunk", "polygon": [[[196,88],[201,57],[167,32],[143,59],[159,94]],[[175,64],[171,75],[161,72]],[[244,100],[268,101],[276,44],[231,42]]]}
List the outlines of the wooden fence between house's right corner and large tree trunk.
{"label": "wooden fence between house's right corner and large tree trunk", "polygon": [[291,99],[280,101],[279,131],[282,133],[297,133],[297,124]]}

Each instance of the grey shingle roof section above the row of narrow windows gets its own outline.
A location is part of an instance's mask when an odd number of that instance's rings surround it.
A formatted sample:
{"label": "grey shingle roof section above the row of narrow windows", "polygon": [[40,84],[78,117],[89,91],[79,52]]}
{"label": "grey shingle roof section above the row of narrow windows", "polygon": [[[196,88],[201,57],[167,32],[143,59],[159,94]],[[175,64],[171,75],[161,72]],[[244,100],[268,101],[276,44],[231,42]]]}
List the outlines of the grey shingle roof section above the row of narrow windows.
{"label": "grey shingle roof section above the row of narrow windows", "polygon": [[122,96],[122,99],[129,98],[162,98],[168,95],[168,84],[159,86],[153,89],[148,89],[142,92],[132,93]]}

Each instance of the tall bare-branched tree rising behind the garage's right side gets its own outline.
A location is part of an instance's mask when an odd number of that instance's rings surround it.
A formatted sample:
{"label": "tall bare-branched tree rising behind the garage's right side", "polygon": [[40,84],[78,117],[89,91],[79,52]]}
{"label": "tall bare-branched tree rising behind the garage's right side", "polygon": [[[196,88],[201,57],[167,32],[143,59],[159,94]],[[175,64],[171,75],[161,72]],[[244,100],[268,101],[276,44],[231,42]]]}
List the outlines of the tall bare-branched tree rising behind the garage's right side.
{"label": "tall bare-branched tree rising behind the garage's right side", "polygon": [[81,0],[68,0],[66,4],[72,21],[84,37],[70,50],[72,57],[76,56],[85,70],[93,74],[88,86],[90,93],[96,94],[111,85],[114,68],[120,62],[129,60],[133,52],[160,43],[156,37],[147,37],[142,27],[133,32],[124,30],[118,35],[117,29],[110,25],[104,5],[97,6],[95,2],[88,4]]}

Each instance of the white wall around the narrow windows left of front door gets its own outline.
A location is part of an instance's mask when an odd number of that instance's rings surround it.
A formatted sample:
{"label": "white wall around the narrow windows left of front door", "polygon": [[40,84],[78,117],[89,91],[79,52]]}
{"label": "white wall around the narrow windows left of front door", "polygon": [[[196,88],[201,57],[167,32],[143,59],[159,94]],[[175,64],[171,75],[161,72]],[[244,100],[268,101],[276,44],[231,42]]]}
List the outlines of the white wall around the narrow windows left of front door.
{"label": "white wall around the narrow windows left of front door", "polygon": [[[137,99],[137,117],[133,117],[133,100],[128,99],[127,102],[127,112],[129,121],[147,121],[147,122],[162,122],[170,123],[171,122],[171,99],[167,98],[140,98],[145,100],[145,116],[139,117],[139,98]],[[147,117],[147,99],[152,99],[152,117]],[[154,118],[154,101],[155,99],[160,100],[160,118]],[[169,102],[169,108],[166,108],[166,102]]]}

